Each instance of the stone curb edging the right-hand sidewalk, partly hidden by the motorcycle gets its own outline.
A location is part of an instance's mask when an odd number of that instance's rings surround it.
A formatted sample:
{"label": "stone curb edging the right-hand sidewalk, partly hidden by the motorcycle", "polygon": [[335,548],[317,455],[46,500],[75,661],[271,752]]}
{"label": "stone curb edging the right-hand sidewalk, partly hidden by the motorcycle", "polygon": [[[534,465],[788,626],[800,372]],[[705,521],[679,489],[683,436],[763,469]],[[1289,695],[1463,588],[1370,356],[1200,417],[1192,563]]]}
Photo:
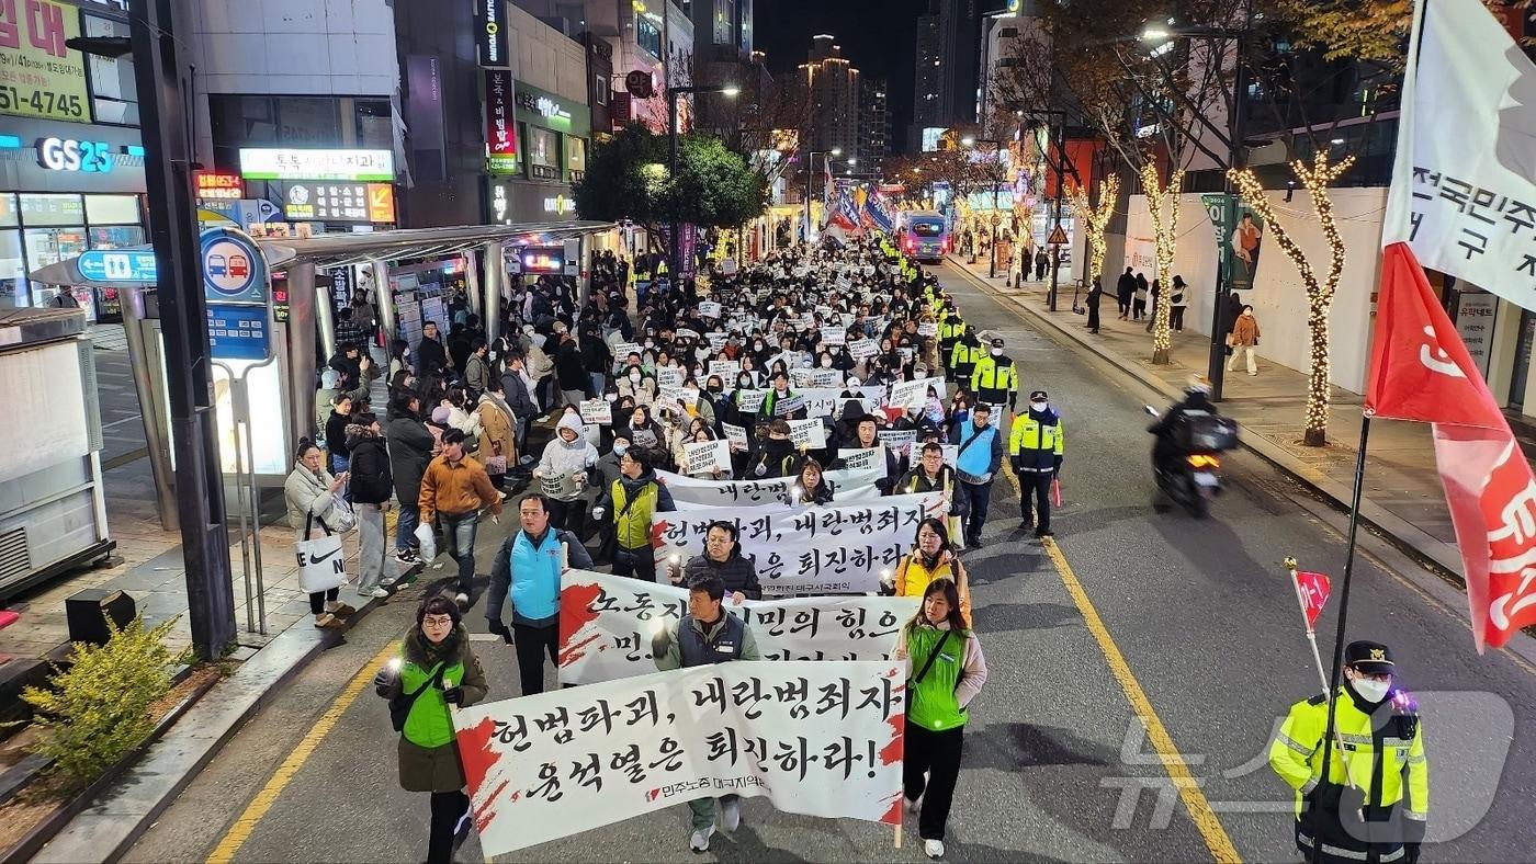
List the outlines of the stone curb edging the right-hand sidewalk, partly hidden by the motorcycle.
{"label": "stone curb edging the right-hand sidewalk, partly hidden by the motorcycle", "polygon": [[[991,295],[998,302],[1005,302],[1012,308],[1025,313],[1031,321],[1049,327],[1057,338],[1066,339],[1072,345],[1077,345],[1078,348],[1089,351],[1095,358],[1111,364],[1112,367],[1120,370],[1121,374],[1129,376],[1143,387],[1155,393],[1160,393],[1161,396],[1170,401],[1178,401],[1183,396],[1180,390],[1175,387],[1169,387],[1160,381],[1149,381],[1141,374],[1141,371],[1134,364],[1124,361],[1123,358],[1118,358],[1107,351],[1101,351],[1092,342],[1080,339],[1077,333],[1072,333],[1068,327],[1058,324],[1049,315],[1044,315],[1040,310],[1032,308],[1020,298],[1000,293],[985,278],[971,273],[971,270],[965,264],[958,264],[954,261],[946,261],[946,262],[952,264],[954,269],[958,270],[968,281],[971,281],[982,290],[988,292],[988,295]],[[1319,476],[1316,471],[1309,470],[1304,465],[1299,465],[1295,459],[1290,457],[1289,453],[1286,453],[1284,448],[1281,448],[1279,445],[1276,445],[1275,442],[1269,440],[1264,436],[1246,434],[1240,439],[1240,447],[1258,456],[1260,459],[1269,462],[1275,468],[1279,468],[1289,477],[1295,479],[1307,490],[1312,490],[1322,499],[1329,500],[1336,509],[1349,513],[1350,497],[1353,494],[1353,483],[1336,483],[1333,480],[1329,480],[1327,477]],[[1456,551],[1455,546],[1436,540],[1435,537],[1430,537],[1418,526],[1412,525],[1410,522],[1398,516],[1393,516],[1390,511],[1387,511],[1385,508],[1375,503],[1373,500],[1370,500],[1370,497],[1366,496],[1361,496],[1359,517],[1362,525],[1376,529],[1382,537],[1390,540],[1395,546],[1407,552],[1410,557],[1418,559],[1421,563],[1428,563],[1436,569],[1444,571],[1444,575],[1450,577],[1458,586],[1462,588],[1462,591],[1465,591],[1465,582],[1462,580],[1461,575],[1461,554]]]}

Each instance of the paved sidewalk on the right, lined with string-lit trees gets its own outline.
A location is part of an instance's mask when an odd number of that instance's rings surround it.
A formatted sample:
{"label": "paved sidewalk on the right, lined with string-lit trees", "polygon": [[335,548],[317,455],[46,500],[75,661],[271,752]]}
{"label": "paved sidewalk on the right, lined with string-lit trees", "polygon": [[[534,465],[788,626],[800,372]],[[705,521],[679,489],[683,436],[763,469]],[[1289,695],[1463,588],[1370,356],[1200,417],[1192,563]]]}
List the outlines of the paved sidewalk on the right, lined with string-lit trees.
{"label": "paved sidewalk on the right, lined with string-lit trees", "polygon": [[[1031,321],[1054,336],[1064,336],[1094,351],[1123,373],[1160,391],[1167,402],[1183,397],[1189,376],[1206,373],[1210,338],[1201,333],[1174,333],[1172,362],[1152,365],[1152,336],[1146,322],[1118,321],[1115,299],[1106,295],[1100,305],[1098,335],[1087,331],[1087,316],[1072,312],[1072,284],[1057,289],[1057,312],[1046,308],[1049,282],[1006,287],[1003,276],[988,279],[986,264],[966,264],[949,256],[948,264],[975,284],[1012,302]],[[1086,302],[1086,293],[1081,295]],[[972,322],[986,328],[986,322]],[[1034,382],[1020,368],[1021,387]],[[1303,371],[1260,358],[1258,374],[1249,376],[1241,364],[1226,374],[1221,413],[1240,424],[1244,448],[1273,462],[1313,491],[1349,509],[1358,454],[1362,397],[1333,388],[1329,411],[1329,444],[1301,444],[1306,416],[1307,376]],[[1166,408],[1167,405],[1157,405]],[[1150,447],[1150,445],[1149,445]],[[1416,551],[1442,569],[1461,575],[1456,533],[1445,508],[1445,494],[1435,471],[1435,448],[1427,424],[1376,420],[1370,428],[1361,519],[1392,537],[1399,546]]]}

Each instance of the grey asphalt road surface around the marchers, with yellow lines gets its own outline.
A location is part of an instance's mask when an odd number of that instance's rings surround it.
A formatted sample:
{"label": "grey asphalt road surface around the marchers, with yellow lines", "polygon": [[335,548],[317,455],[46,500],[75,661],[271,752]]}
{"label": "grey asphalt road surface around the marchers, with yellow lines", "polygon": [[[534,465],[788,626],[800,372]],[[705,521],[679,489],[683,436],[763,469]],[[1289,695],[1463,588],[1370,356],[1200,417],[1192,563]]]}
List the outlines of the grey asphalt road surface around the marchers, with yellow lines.
{"label": "grey asphalt road surface around the marchers, with yellow lines", "polygon": [[[1289,704],[1319,684],[1279,562],[1296,556],[1338,583],[1342,519],[1244,453],[1226,460],[1229,493],[1212,519],[1160,509],[1138,385],[1029,328],[957,272],[942,278],[969,321],[1008,339],[1021,387],[1051,393],[1068,442],[1066,506],[1054,520],[1066,566],[1015,531],[1008,482],[994,485],[986,546],[965,554],[991,681],[966,732],[948,859],[1210,861],[1227,843],[1247,861],[1299,859],[1290,793],[1264,754]],[[481,531],[484,568],[499,536]],[[1453,589],[1376,540],[1366,548],[1349,634],[1392,645],[1418,694],[1438,841],[1424,859],[1536,859],[1536,666],[1510,652],[1479,658]],[[419,594],[373,612],[276,694],[127,859],[194,861],[217,849],[237,861],[424,858],[425,795],[395,781],[386,706],[370,688],[336,701],[406,631]],[[1326,658],[1336,614],[1335,599],[1319,623]],[[479,608],[467,620],[484,626]],[[476,649],[493,698],[516,695],[511,649]],[[329,732],[312,734],[316,723]],[[290,757],[306,734],[318,738],[312,754]],[[1192,780],[1183,795],[1170,770]],[[261,818],[237,826],[263,787]],[[906,847],[892,850],[889,829],[748,800],[740,830],[716,835],[703,858],[919,861],[914,835],[909,819]],[[674,807],[505,859],[685,859],[687,836],[687,810]],[[482,859],[476,839],[459,859]]]}

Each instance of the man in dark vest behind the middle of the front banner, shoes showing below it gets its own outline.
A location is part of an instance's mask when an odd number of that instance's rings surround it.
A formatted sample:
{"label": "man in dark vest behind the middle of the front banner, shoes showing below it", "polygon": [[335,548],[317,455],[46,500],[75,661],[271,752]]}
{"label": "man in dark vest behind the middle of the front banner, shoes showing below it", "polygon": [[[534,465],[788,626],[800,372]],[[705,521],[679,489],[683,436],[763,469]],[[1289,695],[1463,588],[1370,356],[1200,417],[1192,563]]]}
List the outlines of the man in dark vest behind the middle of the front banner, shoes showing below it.
{"label": "man in dark vest behind the middle of the front banner, shoes showing below it", "polygon": [[[657,669],[665,672],[731,660],[762,660],[751,628],[725,609],[723,600],[725,583],[714,574],[700,575],[688,583],[688,614],[651,637],[651,657],[656,658]],[[693,812],[688,849],[693,852],[710,849],[710,838],[714,836],[714,798],[688,801],[688,810]],[[720,796],[720,827],[734,832],[740,824],[740,798]]]}

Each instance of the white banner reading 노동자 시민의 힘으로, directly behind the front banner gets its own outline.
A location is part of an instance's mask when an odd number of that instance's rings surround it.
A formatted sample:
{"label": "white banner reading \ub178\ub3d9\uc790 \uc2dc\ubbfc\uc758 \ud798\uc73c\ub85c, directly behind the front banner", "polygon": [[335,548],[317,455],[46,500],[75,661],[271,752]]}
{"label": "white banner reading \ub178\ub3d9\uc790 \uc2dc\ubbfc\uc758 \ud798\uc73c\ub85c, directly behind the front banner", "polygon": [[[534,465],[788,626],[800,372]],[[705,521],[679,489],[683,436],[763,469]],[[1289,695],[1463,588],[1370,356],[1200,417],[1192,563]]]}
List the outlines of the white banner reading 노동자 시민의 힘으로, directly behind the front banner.
{"label": "white banner reading \ub178\ub3d9\uc790 \uc2dc\ubbfc\uc758 \ud798\uc73c\ub85c, directly behind the front banner", "polygon": [[[727,608],[757,638],[763,660],[885,660],[919,597],[743,600]],[[561,575],[562,684],[594,684],[656,671],[654,622],[688,611],[688,589],[568,569]]]}

